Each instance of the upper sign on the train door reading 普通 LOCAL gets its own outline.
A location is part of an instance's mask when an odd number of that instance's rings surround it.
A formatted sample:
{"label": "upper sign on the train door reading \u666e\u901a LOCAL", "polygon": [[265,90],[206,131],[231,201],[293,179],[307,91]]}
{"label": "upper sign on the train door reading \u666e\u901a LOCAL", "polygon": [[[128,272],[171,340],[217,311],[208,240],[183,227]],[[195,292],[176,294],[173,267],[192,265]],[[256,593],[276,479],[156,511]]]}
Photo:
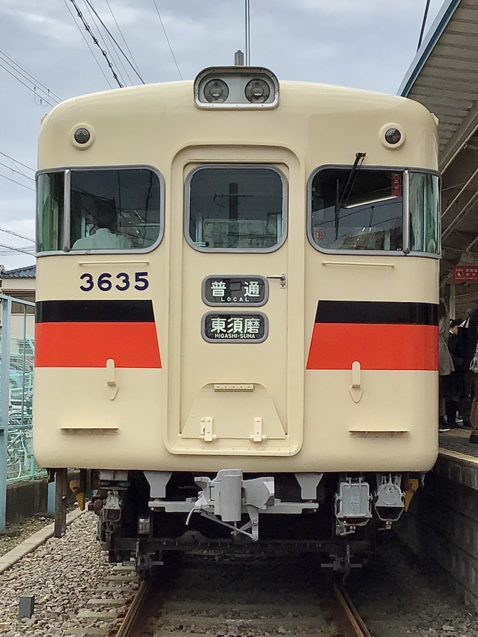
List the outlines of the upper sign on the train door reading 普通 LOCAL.
{"label": "upper sign on the train door reading \u666e\u901a LOCAL", "polygon": [[263,306],[269,298],[269,282],[259,275],[209,276],[202,282],[207,306]]}

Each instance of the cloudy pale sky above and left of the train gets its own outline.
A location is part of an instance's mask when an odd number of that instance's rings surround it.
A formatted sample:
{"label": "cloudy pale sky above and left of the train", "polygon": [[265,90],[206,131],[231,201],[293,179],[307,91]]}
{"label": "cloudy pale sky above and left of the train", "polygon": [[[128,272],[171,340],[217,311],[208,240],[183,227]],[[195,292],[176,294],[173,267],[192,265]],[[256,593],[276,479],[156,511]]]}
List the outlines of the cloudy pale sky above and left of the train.
{"label": "cloudy pale sky above and left of the train", "polygon": [[[75,3],[91,32],[105,50],[101,37],[106,39],[124,83],[137,84],[123,58],[131,79],[127,77],[86,1]],[[245,0],[89,1],[129,55],[124,36],[146,83],[177,80],[180,74],[193,79],[202,68],[231,65],[234,51],[245,48]],[[431,0],[427,29],[442,3]],[[250,0],[251,63],[269,67],[279,80],[396,93],[415,57],[425,4]],[[117,86],[100,49],[80,24],[72,0],[0,0],[0,228],[25,237],[34,237],[37,138],[41,117],[51,110],[46,88],[68,99]],[[22,75],[15,74],[23,84],[11,75],[11,58],[22,65]],[[30,81],[27,73],[37,79]],[[49,99],[54,104],[51,92]],[[2,246],[31,249],[32,242],[0,230],[0,263],[7,269],[34,263],[33,256],[5,254]]]}

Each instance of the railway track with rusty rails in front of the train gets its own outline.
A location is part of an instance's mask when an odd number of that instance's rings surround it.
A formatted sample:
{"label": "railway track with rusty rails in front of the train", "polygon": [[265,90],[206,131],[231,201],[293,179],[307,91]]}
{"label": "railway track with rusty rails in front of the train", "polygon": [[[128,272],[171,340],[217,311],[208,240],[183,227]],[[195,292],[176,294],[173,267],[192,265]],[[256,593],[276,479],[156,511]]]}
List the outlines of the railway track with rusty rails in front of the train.
{"label": "railway track with rusty rails in front of the train", "polygon": [[186,560],[143,582],[115,637],[372,637],[341,579],[284,558]]}

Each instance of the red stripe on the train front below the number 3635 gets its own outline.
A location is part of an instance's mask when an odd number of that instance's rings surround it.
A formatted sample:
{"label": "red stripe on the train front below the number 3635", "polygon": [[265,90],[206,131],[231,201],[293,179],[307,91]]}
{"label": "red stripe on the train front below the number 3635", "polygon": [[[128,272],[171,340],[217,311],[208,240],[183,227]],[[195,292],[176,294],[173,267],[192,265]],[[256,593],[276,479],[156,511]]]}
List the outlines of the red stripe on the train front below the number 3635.
{"label": "red stripe on the train front below the number 3635", "polygon": [[161,367],[152,322],[45,322],[35,329],[36,367]]}

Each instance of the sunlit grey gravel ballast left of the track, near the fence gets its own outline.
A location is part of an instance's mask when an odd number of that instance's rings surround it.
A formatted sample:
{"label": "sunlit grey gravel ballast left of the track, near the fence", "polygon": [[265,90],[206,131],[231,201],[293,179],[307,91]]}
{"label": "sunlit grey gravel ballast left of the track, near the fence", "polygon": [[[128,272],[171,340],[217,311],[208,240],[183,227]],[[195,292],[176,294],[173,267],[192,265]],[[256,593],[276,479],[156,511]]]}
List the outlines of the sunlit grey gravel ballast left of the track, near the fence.
{"label": "sunlit grey gravel ballast left of the track, near the fence", "polygon": [[[89,611],[91,598],[127,602],[137,588],[136,577],[124,582],[117,567],[96,541],[96,518],[84,513],[62,538],[51,538],[0,576],[1,637],[89,637],[108,635],[115,617]],[[102,591],[102,592],[98,592]],[[32,619],[18,619],[20,595],[34,595]],[[90,603],[91,605],[91,603]],[[112,615],[121,616],[122,606]]]}

